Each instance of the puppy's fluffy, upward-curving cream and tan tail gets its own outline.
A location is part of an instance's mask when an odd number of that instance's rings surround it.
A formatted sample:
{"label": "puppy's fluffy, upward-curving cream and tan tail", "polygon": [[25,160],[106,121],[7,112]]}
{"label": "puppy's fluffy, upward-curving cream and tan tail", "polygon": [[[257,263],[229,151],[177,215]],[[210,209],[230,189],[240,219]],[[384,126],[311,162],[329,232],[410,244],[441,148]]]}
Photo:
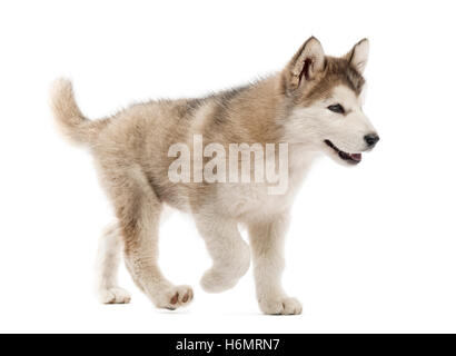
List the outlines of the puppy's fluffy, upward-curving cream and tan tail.
{"label": "puppy's fluffy, upward-curving cream and tan tail", "polygon": [[91,121],[82,115],[68,79],[57,79],[52,85],[51,109],[60,130],[75,144],[93,144],[109,122],[109,119]]}

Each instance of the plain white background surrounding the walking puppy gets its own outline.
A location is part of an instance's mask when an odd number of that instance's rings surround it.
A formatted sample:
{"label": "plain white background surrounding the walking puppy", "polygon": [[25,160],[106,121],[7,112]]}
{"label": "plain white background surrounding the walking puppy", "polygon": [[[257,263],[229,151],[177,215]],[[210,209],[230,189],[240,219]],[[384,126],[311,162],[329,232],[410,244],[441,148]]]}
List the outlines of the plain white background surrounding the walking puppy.
{"label": "plain white background surrounding the walking puppy", "polygon": [[[454,1],[2,1],[0,332],[456,332]],[[311,34],[327,53],[371,42],[365,111],[381,140],[361,165],[323,159],[297,197],[285,285],[296,317],[259,314],[251,273],[205,294],[210,260],[189,217],[160,261],[187,310],[92,293],[111,220],[91,158],[65,142],[50,82],[73,79],[90,118],[135,100],[199,96],[279,70]]]}

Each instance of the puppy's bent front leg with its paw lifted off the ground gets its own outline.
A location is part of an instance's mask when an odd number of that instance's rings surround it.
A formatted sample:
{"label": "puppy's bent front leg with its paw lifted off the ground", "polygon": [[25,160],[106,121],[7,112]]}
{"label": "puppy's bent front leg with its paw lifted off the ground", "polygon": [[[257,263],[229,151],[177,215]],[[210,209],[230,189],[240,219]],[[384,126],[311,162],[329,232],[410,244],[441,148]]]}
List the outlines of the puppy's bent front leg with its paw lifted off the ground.
{"label": "puppy's bent front leg with its paw lifted off the ground", "polygon": [[195,215],[197,228],[206,241],[212,267],[201,278],[209,293],[230,289],[250,266],[250,248],[241,238],[237,222],[211,212]]}

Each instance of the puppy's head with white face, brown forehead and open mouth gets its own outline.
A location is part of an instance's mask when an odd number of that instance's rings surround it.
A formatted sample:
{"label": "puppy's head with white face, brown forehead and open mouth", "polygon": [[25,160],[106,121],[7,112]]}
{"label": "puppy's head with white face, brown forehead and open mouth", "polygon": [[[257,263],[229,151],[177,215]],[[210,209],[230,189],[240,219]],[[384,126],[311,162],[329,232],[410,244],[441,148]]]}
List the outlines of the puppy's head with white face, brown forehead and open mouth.
{"label": "puppy's head with white face, brown forehead and open mouth", "polygon": [[379,137],[363,112],[369,42],[361,40],[344,57],[325,56],[316,38],[308,39],[280,75],[289,102],[287,139],[326,152],[345,165],[357,165]]}

